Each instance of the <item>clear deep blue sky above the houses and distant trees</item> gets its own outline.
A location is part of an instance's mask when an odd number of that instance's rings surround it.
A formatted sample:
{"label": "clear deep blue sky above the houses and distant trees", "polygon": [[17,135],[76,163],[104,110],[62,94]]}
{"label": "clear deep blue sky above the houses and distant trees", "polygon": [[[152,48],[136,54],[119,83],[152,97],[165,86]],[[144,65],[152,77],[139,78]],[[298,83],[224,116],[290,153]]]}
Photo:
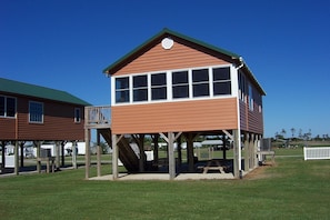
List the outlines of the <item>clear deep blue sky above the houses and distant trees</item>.
{"label": "clear deep blue sky above the houses and distant trees", "polygon": [[330,134],[330,0],[0,0],[0,77],[110,104],[102,70],[163,28],[243,57],[266,137]]}

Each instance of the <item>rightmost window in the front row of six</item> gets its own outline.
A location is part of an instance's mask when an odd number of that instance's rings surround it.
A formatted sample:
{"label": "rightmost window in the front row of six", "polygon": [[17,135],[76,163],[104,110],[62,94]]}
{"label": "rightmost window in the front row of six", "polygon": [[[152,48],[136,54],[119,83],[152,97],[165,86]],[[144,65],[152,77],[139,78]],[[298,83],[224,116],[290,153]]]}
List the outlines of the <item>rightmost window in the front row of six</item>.
{"label": "rightmost window in the front row of six", "polygon": [[230,69],[213,69],[213,94],[231,94]]}

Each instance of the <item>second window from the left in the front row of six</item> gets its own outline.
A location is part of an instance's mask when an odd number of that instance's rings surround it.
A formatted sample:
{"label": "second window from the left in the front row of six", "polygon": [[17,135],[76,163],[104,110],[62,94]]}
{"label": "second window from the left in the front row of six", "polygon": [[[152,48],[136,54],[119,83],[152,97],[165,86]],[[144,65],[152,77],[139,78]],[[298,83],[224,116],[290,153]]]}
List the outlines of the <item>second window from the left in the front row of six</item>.
{"label": "second window from the left in the front row of six", "polygon": [[147,74],[133,77],[133,101],[148,101]]}

